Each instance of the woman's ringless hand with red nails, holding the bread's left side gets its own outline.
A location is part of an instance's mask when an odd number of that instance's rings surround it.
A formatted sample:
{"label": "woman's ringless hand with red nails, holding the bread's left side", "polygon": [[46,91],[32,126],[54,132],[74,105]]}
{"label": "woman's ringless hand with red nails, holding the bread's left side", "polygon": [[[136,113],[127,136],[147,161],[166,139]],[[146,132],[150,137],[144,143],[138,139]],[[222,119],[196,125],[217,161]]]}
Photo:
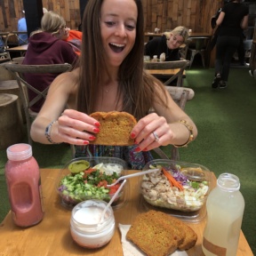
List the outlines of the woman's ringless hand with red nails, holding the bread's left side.
{"label": "woman's ringless hand with red nails, holding the bread's left side", "polygon": [[87,145],[90,140],[95,140],[93,133],[100,132],[99,127],[100,123],[91,116],[73,109],[66,109],[58,118],[58,125],[53,126],[51,136],[54,141]]}

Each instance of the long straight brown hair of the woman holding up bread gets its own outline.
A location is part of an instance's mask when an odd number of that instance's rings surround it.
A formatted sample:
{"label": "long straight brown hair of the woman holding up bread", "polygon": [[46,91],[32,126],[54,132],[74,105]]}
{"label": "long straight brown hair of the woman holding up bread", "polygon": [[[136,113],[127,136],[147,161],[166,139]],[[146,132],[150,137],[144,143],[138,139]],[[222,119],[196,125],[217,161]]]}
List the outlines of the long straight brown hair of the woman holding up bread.
{"label": "long straight brown hair of the woman holding up bread", "polygon": [[[80,56],[80,77],[77,90],[77,110],[91,114],[94,102],[100,91],[100,76],[106,69],[104,49],[100,33],[100,7],[104,0],[89,0],[84,10],[83,41]],[[164,86],[153,76],[143,71],[144,20],[140,0],[134,0],[138,8],[136,39],[132,51],[121,64],[118,72],[118,99],[123,100],[122,111],[135,116],[138,120],[148,114],[154,101],[166,106],[155,87]],[[123,95],[122,99],[121,95]],[[163,96],[162,96],[163,97]],[[116,103],[117,104],[117,103]]]}

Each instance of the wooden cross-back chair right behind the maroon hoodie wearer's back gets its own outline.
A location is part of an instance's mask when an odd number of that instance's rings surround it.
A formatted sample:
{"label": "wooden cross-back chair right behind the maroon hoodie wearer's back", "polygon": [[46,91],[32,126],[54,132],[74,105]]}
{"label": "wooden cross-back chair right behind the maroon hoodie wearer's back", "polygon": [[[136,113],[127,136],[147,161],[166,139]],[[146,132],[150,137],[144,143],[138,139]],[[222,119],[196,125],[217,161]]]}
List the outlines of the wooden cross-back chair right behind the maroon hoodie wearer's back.
{"label": "wooden cross-back chair right behind the maroon hoodie wearer's back", "polygon": [[[5,64],[4,67],[7,70],[10,70],[17,80],[17,83],[19,84],[20,88],[20,95],[22,104],[24,106],[25,110],[25,116],[26,116],[26,123],[27,123],[27,130],[28,130],[28,143],[31,145],[32,140],[30,138],[30,126],[31,121],[30,118],[35,118],[37,116],[36,112],[33,112],[30,110],[31,106],[33,106],[38,100],[41,100],[42,98],[46,98],[46,94],[48,92],[48,87],[44,89],[43,92],[40,92],[36,90],[35,87],[28,84],[24,79],[24,74],[26,73],[33,73],[33,74],[48,74],[48,73],[56,73],[60,74],[63,72],[66,72],[70,70],[71,65],[66,64],[51,64],[51,65],[22,65],[22,64],[15,64],[15,63],[8,63]],[[36,92],[36,97],[33,100],[28,100],[28,89],[32,90],[33,92]]]}

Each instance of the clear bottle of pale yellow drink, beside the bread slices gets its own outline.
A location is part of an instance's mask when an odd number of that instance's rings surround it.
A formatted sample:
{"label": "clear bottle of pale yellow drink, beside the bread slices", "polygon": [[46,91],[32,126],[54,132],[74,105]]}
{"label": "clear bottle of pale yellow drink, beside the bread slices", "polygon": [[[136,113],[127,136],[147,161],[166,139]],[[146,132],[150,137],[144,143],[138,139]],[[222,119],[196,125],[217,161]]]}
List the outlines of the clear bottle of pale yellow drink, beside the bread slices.
{"label": "clear bottle of pale yellow drink, beside the bread slices", "polygon": [[244,215],[244,197],[239,188],[236,175],[222,173],[207,198],[208,220],[202,245],[206,256],[236,256]]}

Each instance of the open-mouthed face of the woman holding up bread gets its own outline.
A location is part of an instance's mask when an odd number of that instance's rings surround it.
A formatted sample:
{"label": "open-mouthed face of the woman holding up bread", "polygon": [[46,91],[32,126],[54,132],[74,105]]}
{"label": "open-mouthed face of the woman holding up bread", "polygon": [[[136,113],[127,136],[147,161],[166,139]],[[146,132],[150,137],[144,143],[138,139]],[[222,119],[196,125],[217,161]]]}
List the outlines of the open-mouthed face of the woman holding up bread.
{"label": "open-mouthed face of the woman holding up bread", "polygon": [[100,10],[100,33],[105,59],[118,67],[132,51],[138,10],[134,0],[104,0]]}

